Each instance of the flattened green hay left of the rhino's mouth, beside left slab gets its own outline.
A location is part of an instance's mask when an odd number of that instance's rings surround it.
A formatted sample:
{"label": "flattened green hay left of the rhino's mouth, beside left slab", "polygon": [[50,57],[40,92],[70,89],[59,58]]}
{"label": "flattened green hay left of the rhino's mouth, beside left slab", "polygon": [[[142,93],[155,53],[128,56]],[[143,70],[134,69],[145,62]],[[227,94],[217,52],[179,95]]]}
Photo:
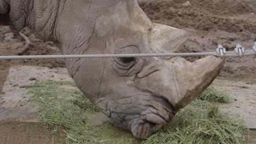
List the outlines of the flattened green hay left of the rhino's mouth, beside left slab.
{"label": "flattened green hay left of the rhino's mouth, beside left slab", "polygon": [[88,115],[99,112],[97,107],[78,90],[61,88],[74,86],[72,82],[36,82],[29,93],[40,103],[42,122],[53,125],[55,130],[63,128],[66,143],[136,143],[133,136],[113,123],[99,127],[88,124]]}

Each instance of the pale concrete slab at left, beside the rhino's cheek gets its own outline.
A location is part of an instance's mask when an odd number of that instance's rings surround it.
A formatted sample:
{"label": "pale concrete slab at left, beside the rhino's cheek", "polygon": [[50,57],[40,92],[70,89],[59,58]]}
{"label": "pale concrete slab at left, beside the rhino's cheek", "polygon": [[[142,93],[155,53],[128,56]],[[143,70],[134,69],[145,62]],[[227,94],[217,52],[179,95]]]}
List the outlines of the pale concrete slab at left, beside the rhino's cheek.
{"label": "pale concrete slab at left, beside the rhino's cheek", "polygon": [[39,122],[39,104],[28,94],[28,87],[36,80],[71,81],[65,68],[10,68],[0,94],[0,121]]}

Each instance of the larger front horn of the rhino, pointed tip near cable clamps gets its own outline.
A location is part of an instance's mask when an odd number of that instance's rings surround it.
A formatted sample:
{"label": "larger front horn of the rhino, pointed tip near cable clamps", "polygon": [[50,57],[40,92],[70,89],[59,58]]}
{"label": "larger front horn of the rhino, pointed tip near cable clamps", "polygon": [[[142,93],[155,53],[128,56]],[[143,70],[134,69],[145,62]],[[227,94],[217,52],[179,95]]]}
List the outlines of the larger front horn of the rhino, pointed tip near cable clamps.
{"label": "larger front horn of the rhino, pointed tip near cable clamps", "polygon": [[[176,97],[176,108],[182,109],[211,85],[220,73],[225,59],[209,56],[193,63],[176,57],[165,61],[170,66],[171,91]],[[178,95],[178,97],[177,97]],[[173,98],[172,98],[173,99]]]}

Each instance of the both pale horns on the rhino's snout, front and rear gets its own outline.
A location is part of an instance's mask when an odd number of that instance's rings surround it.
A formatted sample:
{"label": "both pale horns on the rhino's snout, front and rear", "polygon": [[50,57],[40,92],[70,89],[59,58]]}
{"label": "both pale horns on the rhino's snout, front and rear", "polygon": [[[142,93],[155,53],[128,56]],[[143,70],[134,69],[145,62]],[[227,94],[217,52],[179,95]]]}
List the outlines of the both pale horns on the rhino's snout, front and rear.
{"label": "both pale horns on the rhino's snout, front and rear", "polygon": [[[181,50],[188,37],[188,33],[182,29],[154,23],[149,42],[153,52],[172,53]],[[165,83],[164,88],[168,91],[159,90],[159,86],[153,86],[158,89],[153,87],[152,89],[166,95],[168,101],[172,102],[177,109],[182,109],[212,83],[220,73],[224,62],[225,59],[214,56],[199,59],[193,63],[180,57],[166,59],[159,73],[165,77],[162,81]]]}

